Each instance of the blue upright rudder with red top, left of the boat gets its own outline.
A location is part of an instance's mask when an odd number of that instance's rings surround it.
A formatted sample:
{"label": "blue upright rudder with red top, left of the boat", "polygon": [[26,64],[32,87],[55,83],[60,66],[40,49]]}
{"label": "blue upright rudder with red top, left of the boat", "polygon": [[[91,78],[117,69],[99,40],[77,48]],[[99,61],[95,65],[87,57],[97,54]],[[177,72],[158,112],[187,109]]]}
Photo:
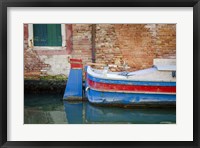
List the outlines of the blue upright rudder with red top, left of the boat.
{"label": "blue upright rudder with red top, left of the boat", "polygon": [[70,59],[71,69],[63,96],[64,100],[82,100],[83,98],[83,70],[82,60]]}

